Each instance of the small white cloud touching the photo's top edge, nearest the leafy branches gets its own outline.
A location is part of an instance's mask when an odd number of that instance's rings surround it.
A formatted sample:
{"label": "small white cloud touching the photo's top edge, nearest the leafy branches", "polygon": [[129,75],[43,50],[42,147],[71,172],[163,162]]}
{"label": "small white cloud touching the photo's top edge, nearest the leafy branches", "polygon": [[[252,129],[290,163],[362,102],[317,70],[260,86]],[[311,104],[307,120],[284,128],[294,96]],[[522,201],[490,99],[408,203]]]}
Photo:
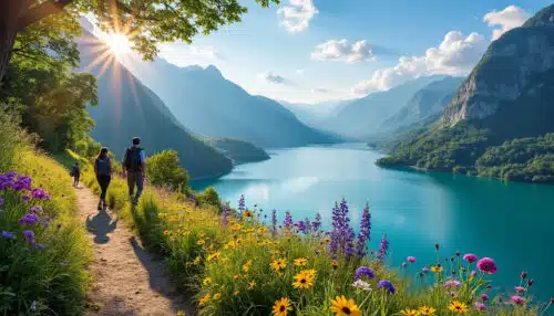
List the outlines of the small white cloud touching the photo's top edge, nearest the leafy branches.
{"label": "small white cloud touching the photo's top edge, nearest the leafy branches", "polygon": [[306,31],[310,20],[318,13],[312,0],[288,0],[277,13],[283,14],[280,24],[290,33]]}

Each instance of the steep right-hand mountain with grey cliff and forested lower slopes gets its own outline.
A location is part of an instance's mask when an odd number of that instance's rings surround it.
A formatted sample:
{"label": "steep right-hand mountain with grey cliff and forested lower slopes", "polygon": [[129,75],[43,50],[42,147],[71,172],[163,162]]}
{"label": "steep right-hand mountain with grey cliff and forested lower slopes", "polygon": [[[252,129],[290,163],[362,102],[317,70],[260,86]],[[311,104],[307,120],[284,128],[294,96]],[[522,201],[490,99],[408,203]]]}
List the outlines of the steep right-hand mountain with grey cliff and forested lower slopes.
{"label": "steep right-hand mountain with grey cliff and forested lower slopes", "polygon": [[554,4],[492,42],[442,116],[383,166],[554,182]]}

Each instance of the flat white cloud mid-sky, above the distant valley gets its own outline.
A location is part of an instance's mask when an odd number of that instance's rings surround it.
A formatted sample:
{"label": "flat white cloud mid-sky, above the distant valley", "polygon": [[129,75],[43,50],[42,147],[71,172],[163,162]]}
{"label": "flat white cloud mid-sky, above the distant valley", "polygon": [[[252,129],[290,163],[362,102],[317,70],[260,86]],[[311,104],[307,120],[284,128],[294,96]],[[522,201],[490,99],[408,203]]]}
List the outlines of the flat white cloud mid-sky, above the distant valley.
{"label": "flat white cloud mid-sky, above the distant valley", "polygon": [[340,61],[349,63],[375,61],[371,45],[368,41],[363,40],[349,44],[346,39],[330,40],[317,45],[316,51],[311,53],[311,57],[319,61]]}

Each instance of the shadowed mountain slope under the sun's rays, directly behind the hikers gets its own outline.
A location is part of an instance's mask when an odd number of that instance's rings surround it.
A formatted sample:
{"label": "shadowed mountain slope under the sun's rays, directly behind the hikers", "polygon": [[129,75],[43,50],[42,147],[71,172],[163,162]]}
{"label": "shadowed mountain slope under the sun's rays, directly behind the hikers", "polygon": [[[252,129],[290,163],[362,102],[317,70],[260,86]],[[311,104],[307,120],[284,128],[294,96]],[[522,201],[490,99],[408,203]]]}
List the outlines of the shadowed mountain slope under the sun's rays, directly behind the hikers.
{"label": "shadowed mountain slope under the sun's rays, directly behind the hikers", "polygon": [[186,130],[165,104],[113,57],[109,48],[83,30],[78,41],[81,70],[98,78],[100,105],[89,112],[96,125],[92,137],[121,159],[134,136],[147,154],[177,150],[191,178],[215,177],[230,171],[233,164],[223,152]]}

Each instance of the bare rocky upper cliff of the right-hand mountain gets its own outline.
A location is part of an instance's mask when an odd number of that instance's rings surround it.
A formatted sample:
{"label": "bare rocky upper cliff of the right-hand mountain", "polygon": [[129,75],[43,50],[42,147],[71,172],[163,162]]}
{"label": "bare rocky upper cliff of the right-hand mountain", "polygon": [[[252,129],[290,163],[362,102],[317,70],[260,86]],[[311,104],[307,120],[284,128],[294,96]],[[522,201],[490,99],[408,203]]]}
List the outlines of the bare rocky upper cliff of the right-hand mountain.
{"label": "bare rocky upper cliff of the right-hand mountain", "polygon": [[[554,70],[554,4],[494,41],[458,91],[443,126],[484,119],[530,93],[536,77]],[[525,104],[519,104],[525,106]]]}

